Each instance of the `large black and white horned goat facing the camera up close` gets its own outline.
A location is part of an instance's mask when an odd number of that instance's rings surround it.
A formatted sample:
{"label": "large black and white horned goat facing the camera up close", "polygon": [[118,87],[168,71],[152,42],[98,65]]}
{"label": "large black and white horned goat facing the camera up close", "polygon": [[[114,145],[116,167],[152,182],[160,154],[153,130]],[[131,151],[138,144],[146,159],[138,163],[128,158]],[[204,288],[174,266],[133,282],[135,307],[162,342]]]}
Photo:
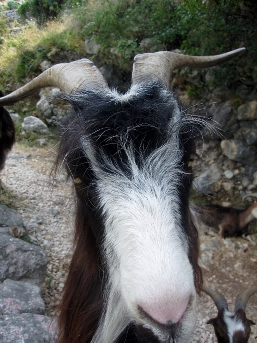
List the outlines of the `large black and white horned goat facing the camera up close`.
{"label": "large black and white horned goat facing the camera up close", "polygon": [[207,121],[180,108],[170,76],[243,51],[137,55],[125,94],[82,59],[55,65],[0,99],[9,105],[55,86],[72,106],[57,158],[77,200],[60,343],[183,343],[192,335],[202,276],[188,197],[194,140]]}

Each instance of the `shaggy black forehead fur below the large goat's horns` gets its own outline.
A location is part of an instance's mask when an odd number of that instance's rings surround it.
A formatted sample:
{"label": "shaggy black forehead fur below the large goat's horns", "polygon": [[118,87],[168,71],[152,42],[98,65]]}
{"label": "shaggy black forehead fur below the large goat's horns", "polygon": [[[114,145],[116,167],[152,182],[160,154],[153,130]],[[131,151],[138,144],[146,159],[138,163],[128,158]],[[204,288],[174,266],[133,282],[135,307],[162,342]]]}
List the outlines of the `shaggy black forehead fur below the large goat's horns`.
{"label": "shaggy black forehead fur below the large goat's horns", "polygon": [[125,164],[124,142],[133,146],[136,159],[137,154],[140,156],[138,161],[171,136],[179,139],[182,150],[186,146],[190,150],[188,154],[192,152],[194,139],[199,136],[205,120],[187,116],[173,94],[159,83],[137,86],[129,94],[87,90],[61,95],[73,110],[62,128],[60,156],[65,156],[66,162],[71,163],[69,168],[74,169],[74,166],[80,176],[82,164],[83,168],[88,165],[82,147],[85,137],[94,144],[96,151],[103,152],[118,164],[121,161]]}

